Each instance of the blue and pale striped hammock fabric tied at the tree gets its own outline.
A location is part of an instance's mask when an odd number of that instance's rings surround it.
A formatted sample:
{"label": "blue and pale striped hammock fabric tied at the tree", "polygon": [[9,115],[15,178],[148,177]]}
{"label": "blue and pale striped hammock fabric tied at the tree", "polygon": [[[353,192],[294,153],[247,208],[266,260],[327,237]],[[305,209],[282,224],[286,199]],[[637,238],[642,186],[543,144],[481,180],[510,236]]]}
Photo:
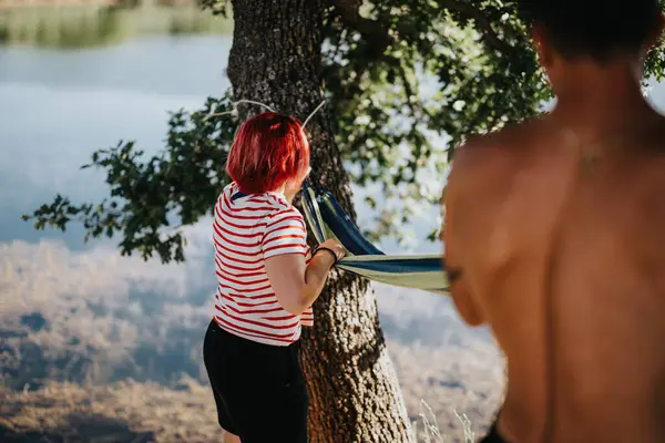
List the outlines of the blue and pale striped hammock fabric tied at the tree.
{"label": "blue and pale striped hammock fabric tied at the tree", "polygon": [[305,182],[303,210],[319,244],[336,238],[347,249],[339,269],[387,285],[449,295],[440,255],[386,255],[365,238],[332,194],[321,190],[317,195]]}

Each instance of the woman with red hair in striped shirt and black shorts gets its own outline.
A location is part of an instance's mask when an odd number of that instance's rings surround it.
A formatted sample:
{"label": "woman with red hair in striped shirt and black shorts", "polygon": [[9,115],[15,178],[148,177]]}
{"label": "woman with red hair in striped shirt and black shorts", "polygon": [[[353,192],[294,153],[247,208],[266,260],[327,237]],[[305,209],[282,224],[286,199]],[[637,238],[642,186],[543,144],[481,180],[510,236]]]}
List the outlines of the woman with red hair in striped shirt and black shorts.
{"label": "woman with red hair in striped shirt and black shorts", "polygon": [[231,147],[233,183],[215,206],[217,291],[204,362],[226,443],[307,442],[300,329],[345,249],[313,254],[291,205],[309,173],[309,144],[296,119],[247,120]]}

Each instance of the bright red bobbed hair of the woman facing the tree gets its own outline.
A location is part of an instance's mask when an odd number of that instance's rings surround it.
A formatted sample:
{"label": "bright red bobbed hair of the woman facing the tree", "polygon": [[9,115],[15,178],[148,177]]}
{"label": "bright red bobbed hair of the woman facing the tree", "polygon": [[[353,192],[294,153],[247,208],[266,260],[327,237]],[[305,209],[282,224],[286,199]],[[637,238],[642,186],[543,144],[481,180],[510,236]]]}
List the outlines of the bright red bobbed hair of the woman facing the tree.
{"label": "bright red bobbed hair of the woman facing the tree", "polygon": [[276,190],[291,179],[305,178],[309,169],[309,143],[297,119],[264,112],[241,126],[226,172],[242,192]]}

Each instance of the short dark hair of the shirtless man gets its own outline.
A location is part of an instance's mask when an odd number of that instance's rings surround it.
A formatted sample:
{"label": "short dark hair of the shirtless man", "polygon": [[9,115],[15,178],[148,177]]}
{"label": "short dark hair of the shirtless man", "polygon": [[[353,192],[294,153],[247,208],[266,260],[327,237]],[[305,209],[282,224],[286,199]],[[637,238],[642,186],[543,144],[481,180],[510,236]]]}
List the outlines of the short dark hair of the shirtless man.
{"label": "short dark hair of the shirtless man", "polygon": [[658,25],[658,0],[519,0],[522,17],[540,24],[566,59],[605,61],[637,52]]}

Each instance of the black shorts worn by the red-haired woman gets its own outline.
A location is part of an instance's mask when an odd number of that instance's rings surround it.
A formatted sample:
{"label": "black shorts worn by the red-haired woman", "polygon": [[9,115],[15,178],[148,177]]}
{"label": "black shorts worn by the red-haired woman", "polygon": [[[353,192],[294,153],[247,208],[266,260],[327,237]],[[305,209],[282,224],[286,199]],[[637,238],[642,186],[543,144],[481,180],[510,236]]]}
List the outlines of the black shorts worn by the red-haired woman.
{"label": "black shorts worn by the red-haired woman", "polygon": [[298,347],[257,343],[211,322],[203,360],[224,430],[243,443],[307,443],[307,388]]}

